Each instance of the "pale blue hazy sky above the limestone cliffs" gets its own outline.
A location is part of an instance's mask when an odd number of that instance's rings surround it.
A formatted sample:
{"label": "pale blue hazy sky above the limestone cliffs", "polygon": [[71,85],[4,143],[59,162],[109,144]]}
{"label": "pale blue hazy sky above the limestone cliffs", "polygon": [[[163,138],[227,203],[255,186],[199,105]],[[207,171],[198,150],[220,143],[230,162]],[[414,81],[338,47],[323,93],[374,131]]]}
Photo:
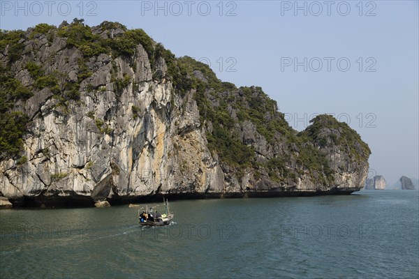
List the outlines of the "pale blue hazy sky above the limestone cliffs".
{"label": "pale blue hazy sky above the limestone cliffs", "polygon": [[319,113],[346,121],[372,149],[370,174],[419,176],[418,1],[0,2],[1,29],[142,28],[221,80],[261,86],[297,130]]}

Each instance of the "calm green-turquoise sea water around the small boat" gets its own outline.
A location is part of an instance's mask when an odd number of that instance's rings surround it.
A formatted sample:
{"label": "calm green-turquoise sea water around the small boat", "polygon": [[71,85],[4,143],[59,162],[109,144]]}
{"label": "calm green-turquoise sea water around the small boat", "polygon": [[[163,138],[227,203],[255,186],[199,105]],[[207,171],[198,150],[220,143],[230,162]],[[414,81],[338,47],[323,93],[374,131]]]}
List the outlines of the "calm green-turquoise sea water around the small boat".
{"label": "calm green-turquoise sea water around the small boat", "polygon": [[[149,204],[152,205],[152,204]],[[417,278],[418,191],[0,211],[0,278]]]}

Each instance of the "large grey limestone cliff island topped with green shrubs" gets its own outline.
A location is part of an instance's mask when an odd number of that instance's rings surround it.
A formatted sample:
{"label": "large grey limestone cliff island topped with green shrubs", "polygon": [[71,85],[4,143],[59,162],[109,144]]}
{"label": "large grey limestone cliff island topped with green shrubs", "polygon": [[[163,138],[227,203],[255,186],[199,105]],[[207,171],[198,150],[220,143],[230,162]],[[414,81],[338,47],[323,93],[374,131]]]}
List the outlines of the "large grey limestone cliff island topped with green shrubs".
{"label": "large grey limestone cliff island topped with green shrubs", "polygon": [[370,151],[345,123],[320,115],[297,133],[259,87],[221,82],[142,30],[73,22],[15,32],[0,42],[0,128],[14,127],[0,134],[0,190],[15,204],[364,185]]}

